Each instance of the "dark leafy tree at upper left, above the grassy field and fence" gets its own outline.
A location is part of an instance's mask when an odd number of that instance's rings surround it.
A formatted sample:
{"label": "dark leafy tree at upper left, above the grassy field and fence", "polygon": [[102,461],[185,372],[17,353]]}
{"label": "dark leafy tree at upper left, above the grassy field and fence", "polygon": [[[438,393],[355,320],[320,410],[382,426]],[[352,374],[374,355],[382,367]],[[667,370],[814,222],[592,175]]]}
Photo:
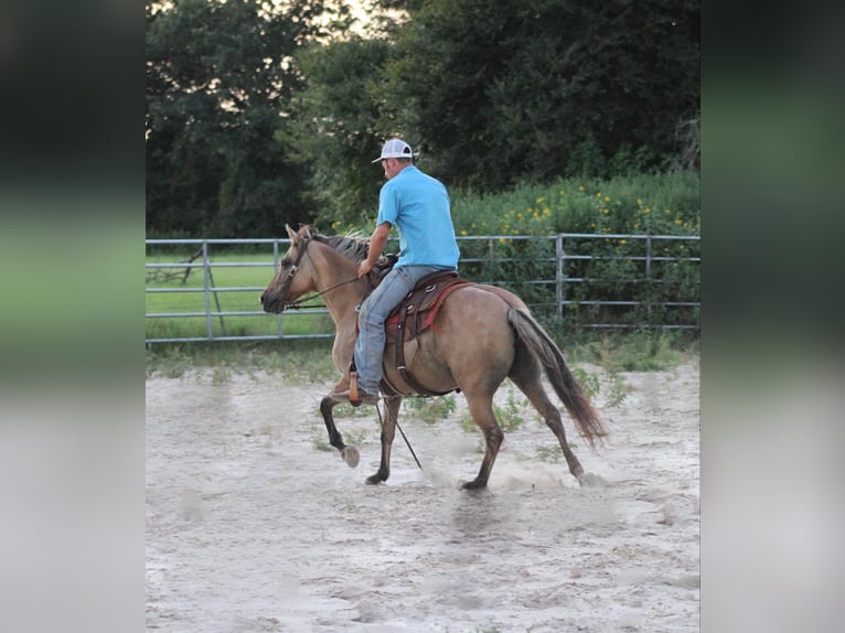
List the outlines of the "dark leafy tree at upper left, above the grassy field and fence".
{"label": "dark leafy tree at upper left, above the grassy field and fence", "polygon": [[277,140],[296,53],[345,20],[322,0],[147,3],[149,234],[259,236],[301,218],[306,168]]}

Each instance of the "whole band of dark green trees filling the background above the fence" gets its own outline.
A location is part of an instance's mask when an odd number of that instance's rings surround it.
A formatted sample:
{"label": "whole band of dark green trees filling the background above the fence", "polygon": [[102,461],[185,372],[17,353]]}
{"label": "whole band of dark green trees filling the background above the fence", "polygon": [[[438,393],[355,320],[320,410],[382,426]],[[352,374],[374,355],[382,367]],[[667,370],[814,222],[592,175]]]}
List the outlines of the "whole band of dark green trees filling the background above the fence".
{"label": "whole band of dark green trees filling the background above the fence", "polygon": [[148,236],[359,226],[394,135],[456,193],[697,169],[697,0],[374,4],[407,19],[362,36],[343,1],[147,3]]}

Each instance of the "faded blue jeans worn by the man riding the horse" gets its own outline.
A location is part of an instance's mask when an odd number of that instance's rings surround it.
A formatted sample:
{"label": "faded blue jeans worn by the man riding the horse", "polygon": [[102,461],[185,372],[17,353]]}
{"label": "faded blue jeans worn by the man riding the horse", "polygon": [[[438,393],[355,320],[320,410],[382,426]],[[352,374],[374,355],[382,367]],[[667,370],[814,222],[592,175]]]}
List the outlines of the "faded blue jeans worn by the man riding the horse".
{"label": "faded blue jeans worn by the man riding the horse", "polygon": [[359,314],[360,333],[355,342],[355,366],[359,386],[370,394],[378,393],[384,357],[384,322],[394,308],[414,289],[417,281],[441,266],[403,266],[391,270],[378,287],[364,299]]}

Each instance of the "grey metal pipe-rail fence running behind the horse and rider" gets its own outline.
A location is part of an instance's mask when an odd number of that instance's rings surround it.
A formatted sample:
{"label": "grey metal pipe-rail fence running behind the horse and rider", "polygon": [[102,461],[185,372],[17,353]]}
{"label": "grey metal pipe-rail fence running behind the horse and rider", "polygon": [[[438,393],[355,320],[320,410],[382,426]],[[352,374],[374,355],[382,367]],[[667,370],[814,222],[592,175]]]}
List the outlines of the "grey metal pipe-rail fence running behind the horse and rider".
{"label": "grey metal pipe-rail fence running behind the horse and rider", "polygon": [[[699,236],[458,239],[463,277],[514,291],[541,320],[575,329],[698,328]],[[280,315],[260,309],[289,242],[148,239],[146,342],[332,337],[322,304]]]}

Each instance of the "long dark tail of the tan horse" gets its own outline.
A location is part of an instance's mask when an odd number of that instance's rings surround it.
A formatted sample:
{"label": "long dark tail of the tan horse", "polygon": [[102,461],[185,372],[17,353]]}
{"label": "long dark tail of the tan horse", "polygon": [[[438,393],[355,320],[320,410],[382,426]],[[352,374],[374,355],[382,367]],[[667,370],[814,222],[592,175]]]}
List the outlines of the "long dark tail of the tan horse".
{"label": "long dark tail of the tan horse", "polygon": [[578,425],[580,433],[587,438],[590,448],[595,450],[596,438],[607,436],[607,429],[598,411],[590,405],[575,380],[560,348],[525,310],[511,308],[507,310],[507,321],[516,333],[516,337],[541,362],[557,397]]}

